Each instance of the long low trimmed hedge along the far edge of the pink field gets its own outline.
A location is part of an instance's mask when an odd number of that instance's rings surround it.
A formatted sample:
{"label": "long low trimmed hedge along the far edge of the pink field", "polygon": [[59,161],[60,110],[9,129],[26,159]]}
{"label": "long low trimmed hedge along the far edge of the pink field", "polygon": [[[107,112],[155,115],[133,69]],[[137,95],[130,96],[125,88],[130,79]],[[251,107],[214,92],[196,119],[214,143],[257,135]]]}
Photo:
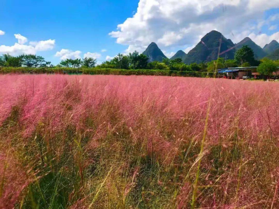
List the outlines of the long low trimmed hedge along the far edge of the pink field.
{"label": "long low trimmed hedge along the far edge of the pink field", "polygon": [[171,70],[125,70],[111,68],[69,68],[69,67],[0,67],[1,74],[8,73],[50,73],[50,74],[90,74],[90,75],[147,75],[147,76],[186,76],[186,77],[213,77],[212,72],[197,72],[197,71],[171,71]]}

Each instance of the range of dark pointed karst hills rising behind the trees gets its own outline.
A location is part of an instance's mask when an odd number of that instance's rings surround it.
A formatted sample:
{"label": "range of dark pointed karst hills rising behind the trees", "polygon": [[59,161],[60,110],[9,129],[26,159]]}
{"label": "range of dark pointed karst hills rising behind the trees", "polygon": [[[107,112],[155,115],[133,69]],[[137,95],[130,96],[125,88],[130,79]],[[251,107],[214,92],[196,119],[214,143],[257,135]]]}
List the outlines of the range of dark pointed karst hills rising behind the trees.
{"label": "range of dark pointed karst hills rising behind the trees", "polygon": [[[235,52],[246,45],[252,49],[256,60],[260,60],[268,54],[272,54],[277,48],[279,48],[279,43],[276,40],[273,40],[269,44],[266,44],[264,48],[261,48],[249,37],[246,37],[239,43],[234,44],[232,40],[225,38],[222,33],[213,30],[207,33],[201,41],[188,52],[188,54],[179,50],[173,57],[170,58],[170,60],[180,58],[183,63],[192,64],[211,62],[212,60],[217,60],[218,57],[223,57],[225,60],[234,59]],[[154,42],[148,46],[143,54],[149,58],[149,62],[162,62],[162,60],[166,58]]]}

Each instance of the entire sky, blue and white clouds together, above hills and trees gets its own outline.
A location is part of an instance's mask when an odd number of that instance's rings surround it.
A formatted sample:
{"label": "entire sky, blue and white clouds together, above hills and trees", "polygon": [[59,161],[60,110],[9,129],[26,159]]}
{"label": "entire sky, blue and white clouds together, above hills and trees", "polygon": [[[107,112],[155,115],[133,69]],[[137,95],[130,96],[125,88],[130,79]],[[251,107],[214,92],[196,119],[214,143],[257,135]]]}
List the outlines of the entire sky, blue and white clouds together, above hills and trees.
{"label": "entire sky, blue and white clouds together, above hills and trees", "polygon": [[1,0],[0,54],[36,53],[53,64],[86,54],[100,63],[156,42],[170,57],[211,30],[263,47],[279,41],[278,22],[279,1]]}

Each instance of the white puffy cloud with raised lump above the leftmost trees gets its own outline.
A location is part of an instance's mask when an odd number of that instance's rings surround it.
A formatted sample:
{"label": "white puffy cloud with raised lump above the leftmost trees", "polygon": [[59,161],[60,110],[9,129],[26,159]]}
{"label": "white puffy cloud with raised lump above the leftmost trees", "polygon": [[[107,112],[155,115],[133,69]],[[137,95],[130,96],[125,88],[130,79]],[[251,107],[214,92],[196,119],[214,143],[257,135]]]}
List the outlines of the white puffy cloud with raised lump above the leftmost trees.
{"label": "white puffy cloud with raised lump above the leftmost trees", "polygon": [[12,46],[1,45],[0,54],[10,54],[10,55],[19,55],[19,54],[36,54],[38,51],[47,51],[52,50],[55,45],[55,40],[49,39],[46,41],[38,42],[29,42],[27,43],[27,38],[20,35],[14,34],[15,38],[18,40],[18,43],[15,43]]}

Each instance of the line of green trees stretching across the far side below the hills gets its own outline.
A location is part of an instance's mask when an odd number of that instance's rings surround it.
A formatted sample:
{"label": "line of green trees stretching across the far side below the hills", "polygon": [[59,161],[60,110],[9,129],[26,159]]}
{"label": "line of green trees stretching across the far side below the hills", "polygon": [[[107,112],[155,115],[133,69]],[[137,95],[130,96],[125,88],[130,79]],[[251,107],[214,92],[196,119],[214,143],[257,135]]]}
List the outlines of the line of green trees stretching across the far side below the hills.
{"label": "line of green trees stretching across the far side below the hills", "polygon": [[45,61],[41,56],[37,55],[19,55],[13,57],[9,54],[4,54],[0,57],[0,66],[6,67],[97,67],[97,68],[112,68],[112,69],[156,69],[156,70],[172,70],[172,71],[199,71],[199,72],[216,72],[217,69],[229,67],[249,67],[259,66],[258,70],[261,74],[270,75],[277,70],[278,61],[256,60],[254,52],[248,46],[240,48],[234,56],[234,59],[225,60],[219,57],[217,60],[212,60],[205,63],[185,64],[181,58],[168,59],[165,58],[162,62],[148,62],[148,57],[139,52],[134,51],[128,55],[119,53],[110,61],[102,62],[97,65],[97,60],[91,57],[84,59],[66,59],[62,60],[58,65],[54,66],[50,62]]}

